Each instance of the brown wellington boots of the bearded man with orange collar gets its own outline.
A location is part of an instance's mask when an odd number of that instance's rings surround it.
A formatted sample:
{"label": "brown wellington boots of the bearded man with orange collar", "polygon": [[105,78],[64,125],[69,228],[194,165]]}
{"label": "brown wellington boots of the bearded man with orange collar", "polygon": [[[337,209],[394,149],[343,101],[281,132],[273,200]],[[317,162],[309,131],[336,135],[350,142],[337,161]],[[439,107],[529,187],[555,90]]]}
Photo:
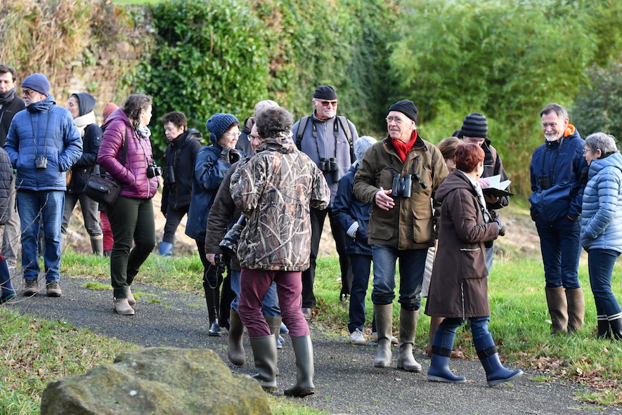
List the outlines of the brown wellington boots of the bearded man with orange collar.
{"label": "brown wellington boots of the bearded man with orange collar", "polygon": [[546,302],[551,316],[551,334],[572,334],[583,326],[585,298],[583,289],[563,286],[546,288]]}

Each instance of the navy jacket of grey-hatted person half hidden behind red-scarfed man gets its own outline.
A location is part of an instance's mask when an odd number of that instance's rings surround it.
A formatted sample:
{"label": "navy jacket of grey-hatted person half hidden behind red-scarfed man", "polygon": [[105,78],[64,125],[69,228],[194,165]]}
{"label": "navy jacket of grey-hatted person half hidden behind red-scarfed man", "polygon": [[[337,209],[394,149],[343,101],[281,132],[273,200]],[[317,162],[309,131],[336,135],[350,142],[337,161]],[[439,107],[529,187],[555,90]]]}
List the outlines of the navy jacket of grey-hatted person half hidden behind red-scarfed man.
{"label": "navy jacket of grey-hatted person half hidden behind red-scarfed man", "polygon": [[346,253],[348,255],[371,255],[372,248],[367,243],[367,227],[369,225],[369,215],[372,206],[365,204],[354,196],[352,185],[354,174],[358,170],[358,162],[352,165],[349,171],[339,180],[337,197],[332,206],[332,213],[345,232],[354,222],[358,222],[356,237],[352,239],[346,235]]}

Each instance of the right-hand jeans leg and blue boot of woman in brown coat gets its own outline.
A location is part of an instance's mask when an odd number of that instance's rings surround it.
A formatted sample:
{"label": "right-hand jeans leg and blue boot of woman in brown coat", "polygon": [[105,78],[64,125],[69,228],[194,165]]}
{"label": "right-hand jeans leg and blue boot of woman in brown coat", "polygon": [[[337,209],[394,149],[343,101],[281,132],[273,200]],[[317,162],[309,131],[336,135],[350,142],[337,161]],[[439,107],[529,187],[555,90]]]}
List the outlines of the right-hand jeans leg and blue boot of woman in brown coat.
{"label": "right-hand jeans leg and blue boot of woman in brown coat", "polygon": [[495,386],[499,383],[509,382],[523,374],[521,369],[505,369],[499,360],[497,346],[493,336],[488,332],[489,317],[477,317],[471,319],[471,329],[473,332],[473,343],[481,365],[486,371],[486,381],[488,386]]}

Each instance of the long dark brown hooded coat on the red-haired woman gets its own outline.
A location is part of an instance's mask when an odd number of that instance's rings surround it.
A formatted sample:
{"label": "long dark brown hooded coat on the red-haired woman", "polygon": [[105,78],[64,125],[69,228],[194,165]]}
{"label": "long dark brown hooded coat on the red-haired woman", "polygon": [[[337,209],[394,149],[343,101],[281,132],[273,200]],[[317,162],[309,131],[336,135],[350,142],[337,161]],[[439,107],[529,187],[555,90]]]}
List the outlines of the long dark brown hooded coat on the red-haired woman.
{"label": "long dark brown hooded coat on the red-haired woman", "polygon": [[484,242],[498,237],[498,226],[484,224],[477,193],[458,170],[436,190],[436,200],[441,202],[439,246],[425,313],[436,317],[489,316]]}

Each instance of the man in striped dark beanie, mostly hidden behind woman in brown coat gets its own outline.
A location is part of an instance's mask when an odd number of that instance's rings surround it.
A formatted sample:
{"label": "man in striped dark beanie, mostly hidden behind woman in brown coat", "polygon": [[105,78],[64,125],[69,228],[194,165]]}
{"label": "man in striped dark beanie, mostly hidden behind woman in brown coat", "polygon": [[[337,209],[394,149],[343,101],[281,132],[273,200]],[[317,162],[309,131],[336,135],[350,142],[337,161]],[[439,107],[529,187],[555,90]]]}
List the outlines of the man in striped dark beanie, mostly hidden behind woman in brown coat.
{"label": "man in striped dark beanie, mostly hidden behind woman in brown coat", "polygon": [[[484,114],[479,112],[468,114],[462,121],[462,128],[456,130],[453,135],[461,138],[465,143],[479,145],[484,150],[484,173],[481,174],[479,179],[481,187],[486,188],[487,177],[501,176],[501,181],[508,179],[507,173],[503,169],[501,157],[497,154],[495,147],[491,145],[491,139],[488,138],[488,120],[484,117]],[[506,190],[510,192],[510,187],[507,187]],[[501,209],[510,203],[509,195],[498,197],[487,195],[486,191],[484,191],[484,199],[486,199],[486,209],[491,213],[493,219],[498,215],[495,209]],[[493,244],[494,241],[486,244],[486,268],[488,268],[488,272],[493,268],[493,253],[495,251]]]}

